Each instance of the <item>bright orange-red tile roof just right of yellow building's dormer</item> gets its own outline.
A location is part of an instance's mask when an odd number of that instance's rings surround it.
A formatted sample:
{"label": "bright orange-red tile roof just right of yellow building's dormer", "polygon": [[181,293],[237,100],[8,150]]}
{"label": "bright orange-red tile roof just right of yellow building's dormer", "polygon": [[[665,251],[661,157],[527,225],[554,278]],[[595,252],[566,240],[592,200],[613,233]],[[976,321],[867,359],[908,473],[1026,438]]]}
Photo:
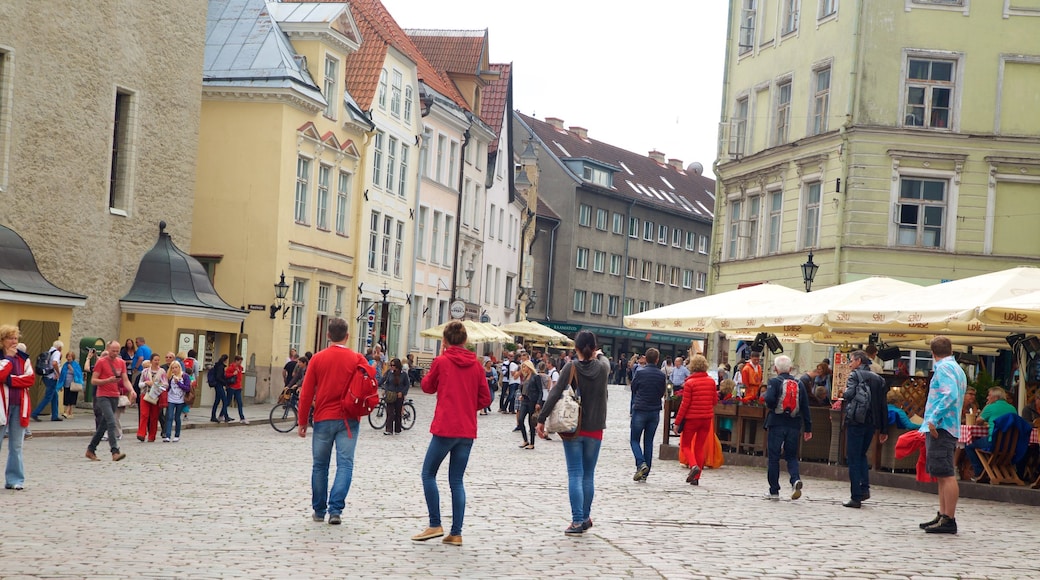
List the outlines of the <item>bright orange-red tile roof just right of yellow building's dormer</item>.
{"label": "bright orange-red tile roof just right of yellow building's dormer", "polygon": [[346,59],[346,86],[362,110],[372,108],[389,47],[394,47],[415,62],[420,81],[469,110],[454,83],[422,56],[380,0],[354,0],[350,12],[361,31],[362,42],[358,52]]}

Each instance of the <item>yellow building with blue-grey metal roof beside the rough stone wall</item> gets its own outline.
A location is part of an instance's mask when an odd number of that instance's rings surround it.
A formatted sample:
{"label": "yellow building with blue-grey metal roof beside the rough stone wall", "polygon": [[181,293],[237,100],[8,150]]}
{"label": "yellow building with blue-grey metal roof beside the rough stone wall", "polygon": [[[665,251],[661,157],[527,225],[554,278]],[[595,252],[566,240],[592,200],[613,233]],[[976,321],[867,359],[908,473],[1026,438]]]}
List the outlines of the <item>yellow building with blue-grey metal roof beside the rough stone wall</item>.
{"label": "yellow building with blue-grey metal roof beside the rough stone wall", "polygon": [[373,125],[345,63],[361,34],[344,3],[211,0],[208,19],[191,254],[250,311],[226,348],[262,401],[290,348],[321,349],[328,320],[355,312]]}

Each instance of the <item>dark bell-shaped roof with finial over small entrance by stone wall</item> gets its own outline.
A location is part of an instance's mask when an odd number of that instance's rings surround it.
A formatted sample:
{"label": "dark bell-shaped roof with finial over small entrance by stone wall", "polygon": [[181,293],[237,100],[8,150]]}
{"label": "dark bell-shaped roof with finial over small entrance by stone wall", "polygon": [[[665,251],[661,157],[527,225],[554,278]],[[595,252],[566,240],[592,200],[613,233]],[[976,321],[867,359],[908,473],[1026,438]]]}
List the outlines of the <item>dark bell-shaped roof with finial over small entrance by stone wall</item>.
{"label": "dark bell-shaped roof with finial over small entrance by stone wall", "polygon": [[224,301],[198,260],[174,244],[159,222],[159,239],[140,260],[133,286],[121,301],[177,305],[241,312]]}

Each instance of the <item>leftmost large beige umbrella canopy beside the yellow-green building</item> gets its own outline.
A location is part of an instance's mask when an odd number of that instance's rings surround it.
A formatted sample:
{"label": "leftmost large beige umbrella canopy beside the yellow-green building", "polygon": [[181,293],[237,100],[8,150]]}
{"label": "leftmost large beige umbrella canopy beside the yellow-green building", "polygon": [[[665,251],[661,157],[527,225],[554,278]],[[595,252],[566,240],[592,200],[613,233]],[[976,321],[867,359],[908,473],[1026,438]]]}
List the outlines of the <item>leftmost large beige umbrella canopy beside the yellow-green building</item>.
{"label": "leftmost large beige umbrella canopy beside the yellow-green building", "polygon": [[714,323],[716,317],[738,315],[785,298],[797,300],[804,294],[778,284],[758,284],[632,314],[625,317],[625,327],[690,334],[725,332]]}

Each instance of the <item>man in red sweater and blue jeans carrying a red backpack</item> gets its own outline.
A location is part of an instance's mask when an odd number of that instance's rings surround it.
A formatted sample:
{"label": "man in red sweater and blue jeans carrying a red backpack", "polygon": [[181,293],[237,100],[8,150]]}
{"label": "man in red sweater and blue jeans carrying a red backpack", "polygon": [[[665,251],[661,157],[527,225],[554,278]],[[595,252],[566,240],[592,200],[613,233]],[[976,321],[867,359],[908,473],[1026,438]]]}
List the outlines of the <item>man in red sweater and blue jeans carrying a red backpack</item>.
{"label": "man in red sweater and blue jeans carrying a red backpack", "polygon": [[[311,451],[314,463],[311,468],[311,505],[313,519],[323,522],[326,512],[329,523],[337,526],[340,513],[350,491],[354,474],[354,450],[358,446],[360,422],[356,417],[347,418],[343,413],[343,395],[354,378],[358,365],[365,365],[370,376],[375,369],[368,366],[357,352],[346,347],[346,320],[333,318],[329,321],[329,347],[314,354],[304,376],[300,390],[300,437],[307,437],[307,416],[314,403],[314,438]],[[336,477],[329,490],[329,463],[333,446],[336,447]]]}

